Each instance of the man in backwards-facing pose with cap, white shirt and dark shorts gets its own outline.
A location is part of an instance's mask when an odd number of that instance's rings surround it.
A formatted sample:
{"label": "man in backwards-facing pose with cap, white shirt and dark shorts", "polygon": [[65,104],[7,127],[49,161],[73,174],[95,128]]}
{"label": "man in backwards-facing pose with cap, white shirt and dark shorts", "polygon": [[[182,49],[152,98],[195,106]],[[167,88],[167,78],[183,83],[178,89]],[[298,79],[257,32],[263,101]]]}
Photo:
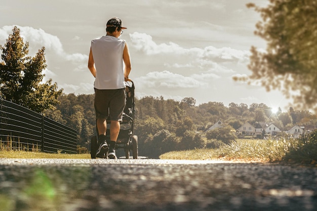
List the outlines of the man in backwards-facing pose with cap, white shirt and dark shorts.
{"label": "man in backwards-facing pose with cap, white shirt and dark shorts", "polygon": [[[88,68],[96,78],[94,106],[99,144],[96,157],[100,158],[106,158],[108,153],[108,158],[116,159],[115,143],[126,104],[125,80],[129,80],[131,62],[126,41],[118,38],[123,29],[127,28],[119,18],[111,18],[106,25],[107,34],[91,41]],[[107,119],[110,120],[109,146]]]}

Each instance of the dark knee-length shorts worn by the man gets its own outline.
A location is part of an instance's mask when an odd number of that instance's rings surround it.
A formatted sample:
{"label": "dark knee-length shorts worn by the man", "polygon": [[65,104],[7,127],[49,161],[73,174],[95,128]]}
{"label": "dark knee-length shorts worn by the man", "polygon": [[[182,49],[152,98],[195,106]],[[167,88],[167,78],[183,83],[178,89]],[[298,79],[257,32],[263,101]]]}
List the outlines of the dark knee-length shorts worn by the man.
{"label": "dark knee-length shorts worn by the man", "polygon": [[126,106],[126,89],[98,90],[95,89],[96,119],[122,121]]}

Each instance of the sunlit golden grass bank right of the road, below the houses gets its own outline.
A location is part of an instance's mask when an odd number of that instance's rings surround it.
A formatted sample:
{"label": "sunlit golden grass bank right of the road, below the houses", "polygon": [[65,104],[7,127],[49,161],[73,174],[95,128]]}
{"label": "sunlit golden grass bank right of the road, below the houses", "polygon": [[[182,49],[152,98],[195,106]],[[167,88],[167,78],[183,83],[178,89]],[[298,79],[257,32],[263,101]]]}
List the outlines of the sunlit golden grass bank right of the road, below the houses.
{"label": "sunlit golden grass bank right of the road, below the houses", "polygon": [[[306,146],[306,147],[305,147]],[[314,146],[314,147],[313,147]],[[161,159],[188,160],[237,160],[247,162],[288,161],[314,164],[317,161],[317,142],[303,143],[301,140],[252,140],[239,139],[217,149],[195,149],[168,152]]]}

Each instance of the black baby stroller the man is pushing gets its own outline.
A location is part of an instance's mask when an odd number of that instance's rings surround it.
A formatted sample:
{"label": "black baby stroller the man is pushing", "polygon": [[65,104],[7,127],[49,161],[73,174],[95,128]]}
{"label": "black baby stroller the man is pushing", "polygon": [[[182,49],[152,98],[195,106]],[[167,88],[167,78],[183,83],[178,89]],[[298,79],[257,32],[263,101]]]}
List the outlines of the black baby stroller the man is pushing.
{"label": "black baby stroller the man is pushing", "polygon": [[[126,154],[126,159],[130,158],[130,151],[132,151],[133,159],[138,158],[138,137],[133,135],[134,129],[134,116],[135,116],[135,102],[134,102],[134,83],[133,81],[125,81],[126,83],[126,107],[123,113],[123,121],[121,122],[120,132],[116,141],[115,149],[124,149]],[[110,142],[110,131],[109,126],[110,121],[107,120],[107,132],[106,141]],[[98,129],[96,126],[96,131],[98,134]],[[96,153],[98,149],[98,136],[92,136],[90,141],[90,154],[91,158],[96,158]],[[107,156],[106,156],[107,157]]]}

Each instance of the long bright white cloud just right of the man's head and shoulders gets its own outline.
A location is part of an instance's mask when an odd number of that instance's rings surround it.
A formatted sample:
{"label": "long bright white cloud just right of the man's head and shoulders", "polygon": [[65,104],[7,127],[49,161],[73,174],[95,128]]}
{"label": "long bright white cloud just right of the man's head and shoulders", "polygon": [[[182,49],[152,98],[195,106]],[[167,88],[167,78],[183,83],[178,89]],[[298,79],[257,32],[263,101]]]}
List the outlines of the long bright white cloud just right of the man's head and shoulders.
{"label": "long bright white cloud just right of the man's head and shoulders", "polygon": [[[250,51],[236,50],[229,47],[215,48],[183,48],[175,43],[156,44],[152,37],[145,33],[130,34],[133,48],[144,52],[146,56],[156,56],[157,62],[164,60],[166,67],[190,68],[197,70],[214,70],[223,73],[235,72],[228,66],[246,66],[249,62]],[[161,58],[161,60],[159,59]]]}

